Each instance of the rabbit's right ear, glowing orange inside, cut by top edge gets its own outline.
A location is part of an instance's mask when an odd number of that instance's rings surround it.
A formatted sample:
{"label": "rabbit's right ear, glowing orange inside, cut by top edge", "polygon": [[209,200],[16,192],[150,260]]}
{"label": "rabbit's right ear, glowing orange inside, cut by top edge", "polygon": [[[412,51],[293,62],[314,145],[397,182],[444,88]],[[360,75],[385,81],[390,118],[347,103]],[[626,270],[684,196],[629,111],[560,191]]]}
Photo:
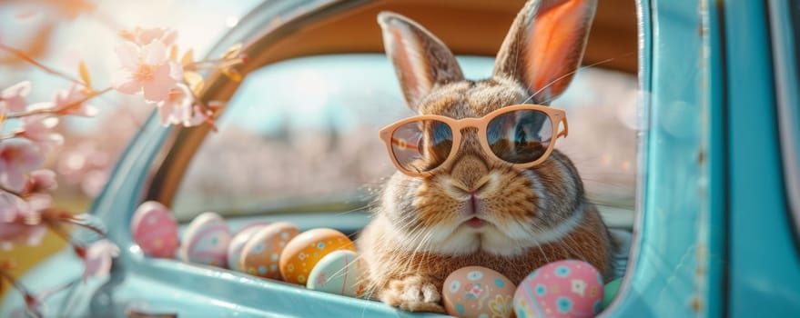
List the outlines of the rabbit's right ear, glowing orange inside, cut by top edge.
{"label": "rabbit's right ear, glowing orange inside, cut by top edge", "polygon": [[503,40],[494,75],[528,88],[533,102],[550,101],[567,88],[581,64],[596,0],[532,0]]}

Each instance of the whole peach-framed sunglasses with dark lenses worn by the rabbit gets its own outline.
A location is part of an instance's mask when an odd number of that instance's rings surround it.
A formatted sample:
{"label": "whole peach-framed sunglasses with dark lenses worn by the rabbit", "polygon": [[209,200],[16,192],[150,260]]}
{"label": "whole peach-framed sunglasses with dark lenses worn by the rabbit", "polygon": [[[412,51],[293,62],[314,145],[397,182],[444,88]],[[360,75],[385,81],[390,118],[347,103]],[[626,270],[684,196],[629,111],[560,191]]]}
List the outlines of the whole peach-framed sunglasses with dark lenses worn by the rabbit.
{"label": "whole peach-framed sunglasses with dark lenses worn by the rabbit", "polygon": [[[561,123],[564,129],[559,131]],[[485,154],[521,169],[541,164],[552,153],[555,139],[566,137],[568,131],[562,109],[518,104],[481,118],[413,116],[381,129],[380,139],[386,143],[391,161],[401,173],[429,176],[452,160],[461,146],[461,131],[465,128],[478,129]]]}

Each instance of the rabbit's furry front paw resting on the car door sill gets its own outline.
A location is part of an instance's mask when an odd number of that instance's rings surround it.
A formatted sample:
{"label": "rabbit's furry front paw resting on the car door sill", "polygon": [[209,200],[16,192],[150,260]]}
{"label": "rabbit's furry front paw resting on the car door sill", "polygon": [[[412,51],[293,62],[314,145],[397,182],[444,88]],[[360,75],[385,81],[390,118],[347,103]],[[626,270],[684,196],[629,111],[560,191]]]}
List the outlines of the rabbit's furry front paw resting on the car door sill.
{"label": "rabbit's furry front paw resting on the car door sill", "polygon": [[439,289],[420,276],[391,281],[380,294],[380,301],[410,312],[444,313]]}

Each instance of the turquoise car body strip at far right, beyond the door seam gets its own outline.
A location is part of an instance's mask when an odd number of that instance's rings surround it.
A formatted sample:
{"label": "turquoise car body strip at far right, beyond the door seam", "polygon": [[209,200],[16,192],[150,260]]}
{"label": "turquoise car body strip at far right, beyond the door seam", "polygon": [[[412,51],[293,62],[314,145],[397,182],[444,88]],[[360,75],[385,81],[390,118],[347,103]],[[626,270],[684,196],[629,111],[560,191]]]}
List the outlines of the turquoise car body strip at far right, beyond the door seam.
{"label": "turquoise car body strip at far right, beyond the door seam", "polygon": [[731,147],[728,313],[797,316],[800,262],[786,210],[765,5],[724,4]]}

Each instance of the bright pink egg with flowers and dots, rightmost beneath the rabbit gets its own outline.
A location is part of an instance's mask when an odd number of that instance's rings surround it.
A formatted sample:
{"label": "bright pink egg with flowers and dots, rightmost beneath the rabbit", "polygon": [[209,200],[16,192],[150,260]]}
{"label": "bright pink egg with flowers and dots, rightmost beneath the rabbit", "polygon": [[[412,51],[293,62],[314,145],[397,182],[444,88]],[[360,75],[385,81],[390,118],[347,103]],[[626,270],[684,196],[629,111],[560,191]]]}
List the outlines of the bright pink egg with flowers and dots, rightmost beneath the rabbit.
{"label": "bright pink egg with flowers and dots, rightmost beneath the rabbit", "polygon": [[514,293],[517,317],[593,317],[602,306],[603,275],[582,261],[548,263]]}

